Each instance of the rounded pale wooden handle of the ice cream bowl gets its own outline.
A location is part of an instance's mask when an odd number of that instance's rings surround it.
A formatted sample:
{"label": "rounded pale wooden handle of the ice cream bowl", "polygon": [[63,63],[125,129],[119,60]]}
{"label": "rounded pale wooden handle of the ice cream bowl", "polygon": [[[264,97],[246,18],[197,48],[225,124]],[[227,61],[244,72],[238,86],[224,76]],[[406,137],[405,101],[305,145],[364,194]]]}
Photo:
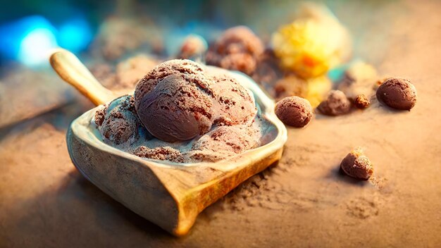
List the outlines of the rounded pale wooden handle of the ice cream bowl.
{"label": "rounded pale wooden handle of the ice cream bowl", "polygon": [[70,51],[57,49],[51,54],[49,61],[61,79],[75,87],[95,105],[106,104],[118,97],[101,85],[94,75],[87,70],[86,66]]}

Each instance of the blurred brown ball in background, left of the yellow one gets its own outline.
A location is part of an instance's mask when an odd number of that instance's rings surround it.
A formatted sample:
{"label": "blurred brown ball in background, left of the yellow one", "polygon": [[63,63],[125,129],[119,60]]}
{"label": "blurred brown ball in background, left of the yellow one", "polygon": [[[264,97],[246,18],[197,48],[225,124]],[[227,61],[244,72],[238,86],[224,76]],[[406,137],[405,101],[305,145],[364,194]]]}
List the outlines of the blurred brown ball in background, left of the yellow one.
{"label": "blurred brown ball in background, left of the yellow one", "polygon": [[263,49],[259,37],[248,27],[232,27],[210,46],[206,63],[251,75],[256,69],[256,59],[263,53]]}

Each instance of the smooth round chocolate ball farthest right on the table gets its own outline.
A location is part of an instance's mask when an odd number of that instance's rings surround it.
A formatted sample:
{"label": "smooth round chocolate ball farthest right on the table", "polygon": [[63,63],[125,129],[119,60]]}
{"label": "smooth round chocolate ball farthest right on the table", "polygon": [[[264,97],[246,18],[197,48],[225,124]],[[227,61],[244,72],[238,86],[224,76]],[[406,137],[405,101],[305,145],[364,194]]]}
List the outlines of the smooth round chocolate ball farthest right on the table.
{"label": "smooth round chocolate ball farthest right on the table", "polygon": [[377,99],[393,109],[410,111],[416,104],[416,89],[409,80],[390,77],[378,87]]}

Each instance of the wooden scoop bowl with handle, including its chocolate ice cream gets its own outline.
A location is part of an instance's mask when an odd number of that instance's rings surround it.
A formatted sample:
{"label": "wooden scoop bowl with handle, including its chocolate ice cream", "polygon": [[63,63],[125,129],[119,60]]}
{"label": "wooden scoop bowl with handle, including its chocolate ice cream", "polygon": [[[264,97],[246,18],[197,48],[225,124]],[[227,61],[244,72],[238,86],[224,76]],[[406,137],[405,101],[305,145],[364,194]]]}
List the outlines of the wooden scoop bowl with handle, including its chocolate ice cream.
{"label": "wooden scoop bowl with handle, including its chocolate ice cream", "polygon": [[282,156],[286,128],[247,75],[170,60],[124,94],[104,88],[66,50],[50,61],[97,105],[68,130],[75,167],[173,235],[185,235],[202,210]]}

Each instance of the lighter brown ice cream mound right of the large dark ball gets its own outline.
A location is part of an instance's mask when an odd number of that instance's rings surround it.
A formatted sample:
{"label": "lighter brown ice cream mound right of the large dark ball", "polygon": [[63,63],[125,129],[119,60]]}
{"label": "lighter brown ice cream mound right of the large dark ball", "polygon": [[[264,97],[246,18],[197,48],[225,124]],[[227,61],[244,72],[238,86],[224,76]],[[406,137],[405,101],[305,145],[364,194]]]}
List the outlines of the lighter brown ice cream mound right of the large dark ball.
{"label": "lighter brown ice cream mound right of the large dark ball", "polygon": [[257,109],[252,94],[228,75],[213,77],[216,108],[214,123],[218,125],[251,124]]}

